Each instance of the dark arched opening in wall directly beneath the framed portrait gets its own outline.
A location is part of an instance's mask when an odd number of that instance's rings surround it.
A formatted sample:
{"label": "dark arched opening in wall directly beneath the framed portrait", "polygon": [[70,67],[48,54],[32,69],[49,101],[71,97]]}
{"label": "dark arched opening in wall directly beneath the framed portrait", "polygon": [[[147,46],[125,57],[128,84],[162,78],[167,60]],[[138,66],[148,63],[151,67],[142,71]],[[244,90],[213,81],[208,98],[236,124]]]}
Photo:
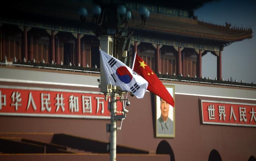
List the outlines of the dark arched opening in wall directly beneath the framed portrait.
{"label": "dark arched opening in wall directly beneath the framed portrait", "polygon": [[175,157],[172,151],[172,147],[169,145],[169,143],[165,140],[162,140],[157,148],[156,148],[156,154],[169,154],[170,155],[170,161],[175,161]]}

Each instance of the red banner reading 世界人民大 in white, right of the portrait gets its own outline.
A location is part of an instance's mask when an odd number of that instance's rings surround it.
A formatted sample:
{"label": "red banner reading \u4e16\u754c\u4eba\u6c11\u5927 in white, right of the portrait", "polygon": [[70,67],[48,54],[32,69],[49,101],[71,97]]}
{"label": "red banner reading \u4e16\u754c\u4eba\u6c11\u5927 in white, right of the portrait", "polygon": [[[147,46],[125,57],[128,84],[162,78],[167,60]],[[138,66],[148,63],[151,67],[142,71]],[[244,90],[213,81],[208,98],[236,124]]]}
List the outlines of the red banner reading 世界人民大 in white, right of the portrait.
{"label": "red banner reading \u4e16\u754c\u4eba\u6c11\u5927 in white, right of the portrait", "polygon": [[256,127],[256,105],[201,100],[201,120],[204,124]]}

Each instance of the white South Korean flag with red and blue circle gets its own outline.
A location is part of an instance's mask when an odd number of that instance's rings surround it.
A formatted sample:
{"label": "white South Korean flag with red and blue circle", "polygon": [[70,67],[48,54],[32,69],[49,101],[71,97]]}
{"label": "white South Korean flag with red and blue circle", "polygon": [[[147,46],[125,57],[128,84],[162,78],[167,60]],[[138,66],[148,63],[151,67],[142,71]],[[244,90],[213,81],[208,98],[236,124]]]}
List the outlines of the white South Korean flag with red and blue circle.
{"label": "white South Korean flag with red and blue circle", "polygon": [[105,53],[100,49],[103,67],[101,74],[105,73],[105,78],[109,84],[119,86],[122,90],[132,92],[137,98],[143,98],[148,82],[120,60]]}

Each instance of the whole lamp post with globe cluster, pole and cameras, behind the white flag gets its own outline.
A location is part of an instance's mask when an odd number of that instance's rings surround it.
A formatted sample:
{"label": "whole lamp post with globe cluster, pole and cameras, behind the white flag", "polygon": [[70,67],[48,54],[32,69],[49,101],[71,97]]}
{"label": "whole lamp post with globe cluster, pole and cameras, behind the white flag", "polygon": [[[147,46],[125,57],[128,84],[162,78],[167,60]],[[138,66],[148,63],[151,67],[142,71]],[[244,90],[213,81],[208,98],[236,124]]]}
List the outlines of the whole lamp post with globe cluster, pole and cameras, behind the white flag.
{"label": "whole lamp post with globe cluster, pole and cameras, behind the white flag", "polygon": [[[79,9],[79,17],[81,21],[90,26],[96,36],[102,36],[102,35],[108,35],[114,37],[114,51],[113,55],[118,57],[118,49],[121,51],[127,51],[130,48],[131,40],[129,38],[130,35],[133,34],[133,31],[128,30],[128,25],[131,20],[133,20],[133,23],[136,26],[144,26],[146,19],[149,17],[150,12],[145,6],[139,7],[139,13],[141,16],[141,23],[137,24],[135,22],[134,16],[132,12],[127,9],[124,5],[116,5],[113,3],[103,3],[101,4],[101,7],[98,5],[95,5],[91,9],[92,16],[91,18],[87,18],[88,11],[86,8],[82,7]],[[103,42],[103,41],[102,41]],[[100,41],[101,43],[101,41]],[[101,47],[104,46],[105,50],[107,52],[109,51],[109,41],[105,41],[104,43],[108,44],[101,44]],[[119,45],[120,44],[120,45]],[[128,45],[127,45],[128,44]],[[119,48],[118,46],[121,46]],[[113,45],[112,45],[113,47]],[[110,53],[109,53],[110,54]],[[120,59],[120,58],[119,58]],[[116,160],[116,130],[118,129],[116,122],[117,120],[123,119],[126,117],[125,113],[128,112],[128,110],[125,109],[125,105],[123,107],[123,115],[117,116],[117,108],[116,108],[116,101],[118,92],[116,86],[107,85],[107,82],[105,81],[105,78],[101,76],[101,82],[100,82],[101,92],[105,94],[105,98],[107,94],[111,96],[111,105],[110,105],[110,161]],[[111,87],[111,88],[108,88]],[[122,91],[123,93],[127,93]],[[123,94],[122,94],[123,95]],[[120,99],[119,99],[120,100]],[[123,100],[123,99],[122,99]],[[127,100],[127,96],[126,99]],[[129,101],[126,101],[125,103],[127,106],[130,105]],[[122,122],[121,122],[122,126]],[[107,126],[109,127],[109,126]],[[121,129],[121,128],[120,128]]]}

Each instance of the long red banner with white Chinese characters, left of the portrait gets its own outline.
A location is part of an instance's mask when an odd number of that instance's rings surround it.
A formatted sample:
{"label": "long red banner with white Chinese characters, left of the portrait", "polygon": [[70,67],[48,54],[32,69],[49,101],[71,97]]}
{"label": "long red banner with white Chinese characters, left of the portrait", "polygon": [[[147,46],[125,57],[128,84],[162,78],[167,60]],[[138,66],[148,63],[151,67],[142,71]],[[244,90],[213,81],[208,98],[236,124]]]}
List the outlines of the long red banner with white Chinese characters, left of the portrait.
{"label": "long red banner with white Chinese characters, left of the portrait", "polygon": [[110,119],[108,101],[99,92],[0,88],[0,115]]}

